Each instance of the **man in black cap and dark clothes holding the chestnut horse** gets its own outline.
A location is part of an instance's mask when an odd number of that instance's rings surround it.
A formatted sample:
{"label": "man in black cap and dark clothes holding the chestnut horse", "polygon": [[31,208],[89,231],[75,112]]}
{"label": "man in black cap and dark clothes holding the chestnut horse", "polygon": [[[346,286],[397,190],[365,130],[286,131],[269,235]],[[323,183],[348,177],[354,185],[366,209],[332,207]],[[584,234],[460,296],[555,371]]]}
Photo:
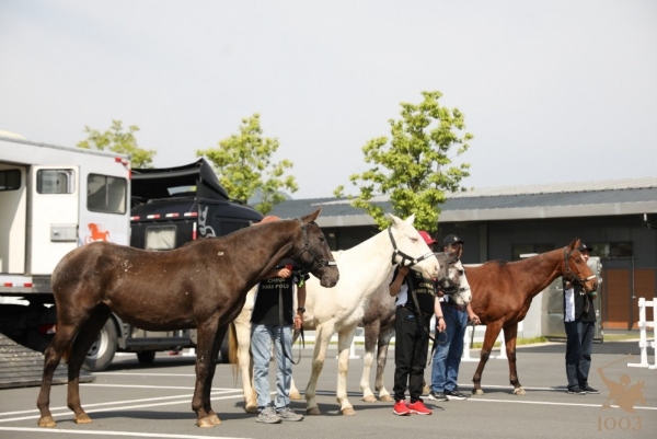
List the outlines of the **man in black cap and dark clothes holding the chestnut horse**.
{"label": "man in black cap and dark clothes holding the chestnut horse", "polygon": [[[589,252],[593,249],[581,242],[577,250],[588,263]],[[563,286],[567,393],[572,395],[600,393],[588,384],[596,332],[595,293],[587,293],[581,285],[572,284],[565,278],[563,278]]]}

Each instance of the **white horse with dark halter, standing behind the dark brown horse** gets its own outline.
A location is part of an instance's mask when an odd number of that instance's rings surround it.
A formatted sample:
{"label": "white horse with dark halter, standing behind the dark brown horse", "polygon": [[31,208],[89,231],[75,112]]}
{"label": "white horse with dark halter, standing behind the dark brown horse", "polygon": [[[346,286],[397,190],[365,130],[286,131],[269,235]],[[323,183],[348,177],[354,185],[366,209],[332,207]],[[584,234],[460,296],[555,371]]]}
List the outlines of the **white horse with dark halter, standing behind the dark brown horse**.
{"label": "white horse with dark halter, standing behind the dark brown horse", "polygon": [[[306,312],[303,328],[315,331],[315,346],[312,360],[312,372],[306,388],[307,413],[320,415],[315,402],[319,376],[324,366],[326,349],[333,334],[338,335],[338,378],[336,398],[343,415],[354,415],[354,407],[347,400],[347,370],[349,348],[354,333],[365,313],[365,307],[371,294],[383,284],[393,264],[411,266],[426,278],[439,278],[447,281],[447,275],[440,273],[438,258],[424,242],[413,227],[415,216],[406,220],[392,216],[392,226],[369,240],[336,254],[341,270],[338,284],[328,291],[320,286],[316,278],[307,281]],[[250,316],[253,309],[253,292],[247,296],[247,303],[234,320],[240,370],[246,412],[257,409],[251,383],[251,342]],[[251,300],[250,300],[251,298]],[[251,302],[251,303],[249,303]],[[232,333],[232,331],[231,331]],[[234,342],[233,342],[234,343]],[[233,349],[231,349],[234,351]],[[291,393],[290,397],[293,398]]]}

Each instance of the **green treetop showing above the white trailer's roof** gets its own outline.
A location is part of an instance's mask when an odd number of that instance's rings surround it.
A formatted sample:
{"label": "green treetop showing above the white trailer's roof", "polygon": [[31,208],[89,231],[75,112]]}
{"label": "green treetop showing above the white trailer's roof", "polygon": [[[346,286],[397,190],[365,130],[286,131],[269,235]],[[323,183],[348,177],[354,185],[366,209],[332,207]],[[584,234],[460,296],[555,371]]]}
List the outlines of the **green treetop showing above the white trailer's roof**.
{"label": "green treetop showing above the white trailer's roof", "polygon": [[112,120],[112,127],[105,132],[85,126],[84,132],[89,137],[87,140],[79,142],[78,148],[110,150],[119,154],[128,154],[132,167],[152,167],[155,151],[141,149],[137,146],[137,138],[135,137],[137,131],[139,131],[139,127],[136,125],[130,125],[127,132],[124,131],[120,120]]}

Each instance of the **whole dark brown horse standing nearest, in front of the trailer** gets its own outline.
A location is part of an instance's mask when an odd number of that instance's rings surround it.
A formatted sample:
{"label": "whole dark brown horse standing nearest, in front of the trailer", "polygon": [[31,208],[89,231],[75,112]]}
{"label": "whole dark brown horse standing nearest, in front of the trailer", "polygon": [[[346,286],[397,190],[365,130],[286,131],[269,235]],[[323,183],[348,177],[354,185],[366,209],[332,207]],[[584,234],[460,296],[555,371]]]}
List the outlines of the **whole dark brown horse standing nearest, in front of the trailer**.
{"label": "whole dark brown horse standing nearest, in front of the trailer", "polygon": [[57,333],[45,351],[36,402],[38,425],[56,426],[50,385],[62,357],[68,357],[67,405],[76,423],[91,423],[80,404],[80,368],[112,312],[147,331],[197,330],[192,408],[197,426],[220,424],[210,406],[215,359],[246,292],[284,257],[295,258],[324,287],[337,284],[338,268],[314,222],[320,212],[194,241],[169,252],[95,242],[67,254],[53,273]]}

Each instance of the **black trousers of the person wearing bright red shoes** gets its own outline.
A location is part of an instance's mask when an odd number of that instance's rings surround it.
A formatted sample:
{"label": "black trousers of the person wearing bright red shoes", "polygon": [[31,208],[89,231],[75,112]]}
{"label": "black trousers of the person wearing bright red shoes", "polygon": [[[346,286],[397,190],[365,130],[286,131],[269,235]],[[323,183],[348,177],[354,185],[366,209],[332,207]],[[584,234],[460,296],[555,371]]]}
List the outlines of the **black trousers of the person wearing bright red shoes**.
{"label": "black trousers of the person wearing bright red shoes", "polygon": [[[424,325],[424,327],[423,327]],[[428,322],[417,319],[405,308],[397,308],[394,322],[394,400],[404,401],[406,389],[411,402],[422,401],[424,370],[429,349]]]}

